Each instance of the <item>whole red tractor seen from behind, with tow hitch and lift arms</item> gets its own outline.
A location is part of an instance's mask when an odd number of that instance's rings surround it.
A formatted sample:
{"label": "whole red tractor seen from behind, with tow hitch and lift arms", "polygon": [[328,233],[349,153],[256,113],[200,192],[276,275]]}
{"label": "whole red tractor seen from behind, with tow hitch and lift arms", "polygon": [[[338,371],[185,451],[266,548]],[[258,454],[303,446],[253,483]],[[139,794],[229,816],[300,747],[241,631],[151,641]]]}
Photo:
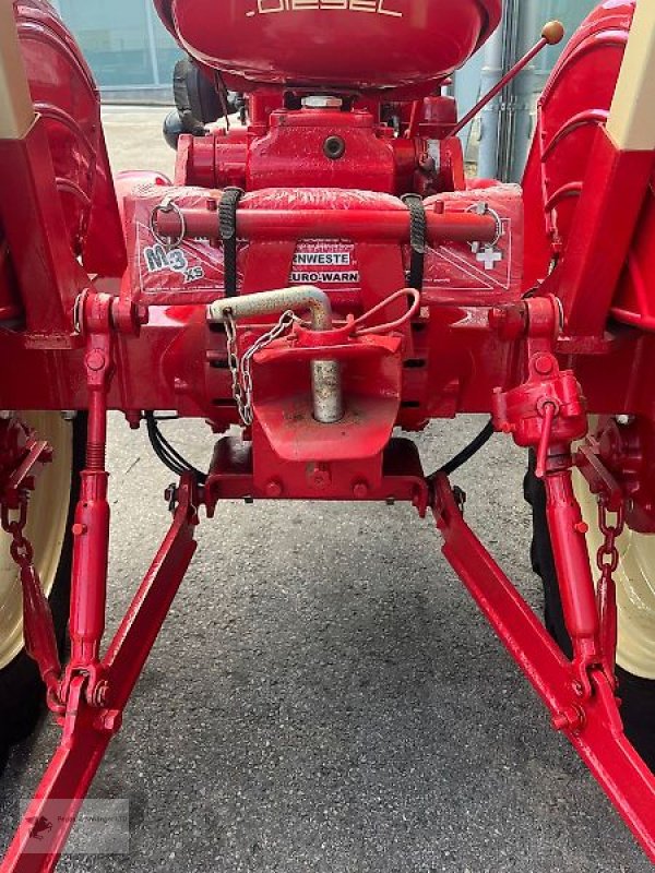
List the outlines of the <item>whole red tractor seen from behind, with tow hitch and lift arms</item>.
{"label": "whole red tractor seen from behind, with tow hitch and lift arms", "polygon": [[[468,117],[445,87],[498,26],[500,0],[155,3],[189,53],[172,181],[112,180],[97,93],[61,21],[45,0],[0,9],[12,561],[0,744],[32,728],[44,685],[62,729],[0,870],[55,868],[191,561],[199,511],[224,500],[406,501],[429,515],[655,860],[655,10],[605,3],[573,37],[520,188],[466,179]],[[561,38],[547,25],[511,75]],[[234,93],[245,123],[205,129]],[[104,643],[110,410],[147,429],[178,481],[170,529]],[[217,434],[206,468],[167,441],[163,410]],[[488,426],[425,471],[400,431],[466,412]],[[449,480],[497,431],[528,450],[545,623]],[[66,815],[35,847],[55,802]]]}

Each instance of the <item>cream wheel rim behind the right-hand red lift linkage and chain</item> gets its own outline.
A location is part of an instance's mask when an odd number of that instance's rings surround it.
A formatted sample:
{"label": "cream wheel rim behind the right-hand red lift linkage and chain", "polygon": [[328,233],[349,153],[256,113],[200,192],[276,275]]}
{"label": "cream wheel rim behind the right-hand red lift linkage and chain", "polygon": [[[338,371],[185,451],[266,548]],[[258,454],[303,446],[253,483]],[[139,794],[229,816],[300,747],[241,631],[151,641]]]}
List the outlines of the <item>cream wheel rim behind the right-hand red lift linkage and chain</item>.
{"label": "cream wheel rim behind the right-hand red lift linkage and chain", "polygon": [[[575,476],[575,492],[590,526],[590,562],[597,579],[596,554],[602,543],[598,505],[580,474]],[[615,574],[619,615],[617,662],[634,675],[655,679],[655,536],[627,530],[618,547],[621,563]]]}

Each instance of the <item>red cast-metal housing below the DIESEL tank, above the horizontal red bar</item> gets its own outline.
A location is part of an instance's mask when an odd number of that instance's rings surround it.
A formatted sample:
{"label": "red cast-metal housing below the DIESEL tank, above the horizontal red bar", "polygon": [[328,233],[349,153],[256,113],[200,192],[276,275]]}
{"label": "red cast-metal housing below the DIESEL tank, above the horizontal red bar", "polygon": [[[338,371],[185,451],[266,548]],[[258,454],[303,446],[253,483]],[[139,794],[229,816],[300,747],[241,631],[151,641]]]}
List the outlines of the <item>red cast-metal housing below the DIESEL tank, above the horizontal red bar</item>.
{"label": "red cast-metal housing below the DIESEL tank, above the horizontal red bar", "polygon": [[[257,191],[281,184],[311,188],[318,178],[330,187],[402,194],[417,190],[424,195],[463,189],[464,155],[458,139],[449,134],[456,120],[453,98],[431,96],[417,100],[409,122],[402,108],[379,101],[357,104],[356,111],[290,111],[279,94],[258,94],[249,99],[248,128],[222,128],[207,136],[183,135],[178,146],[176,184]],[[402,106],[402,105],[401,105]],[[396,136],[384,121],[396,112],[404,135]],[[325,154],[329,136],[343,141],[338,162]],[[306,158],[289,166],[288,154],[303,144]]]}

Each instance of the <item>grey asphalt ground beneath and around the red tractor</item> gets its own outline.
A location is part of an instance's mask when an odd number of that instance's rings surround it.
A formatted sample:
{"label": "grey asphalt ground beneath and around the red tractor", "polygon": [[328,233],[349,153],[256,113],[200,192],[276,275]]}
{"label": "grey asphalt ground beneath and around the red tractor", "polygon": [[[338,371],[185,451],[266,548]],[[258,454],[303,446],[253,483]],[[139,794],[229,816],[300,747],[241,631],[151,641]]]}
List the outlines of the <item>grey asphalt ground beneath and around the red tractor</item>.
{"label": "grey asphalt ground beneath and around the red tractor", "polygon": [[[162,113],[112,110],[117,167],[169,169]],[[479,429],[419,438],[426,466]],[[212,440],[167,424],[198,464]],[[507,439],[457,476],[469,521],[538,602],[523,457]],[[170,480],[111,424],[110,624],[167,525]],[[57,732],[17,749],[0,840]],[[62,871],[645,873],[651,864],[549,728],[429,523],[398,506],[226,505],[93,788],[131,802],[128,858]]]}

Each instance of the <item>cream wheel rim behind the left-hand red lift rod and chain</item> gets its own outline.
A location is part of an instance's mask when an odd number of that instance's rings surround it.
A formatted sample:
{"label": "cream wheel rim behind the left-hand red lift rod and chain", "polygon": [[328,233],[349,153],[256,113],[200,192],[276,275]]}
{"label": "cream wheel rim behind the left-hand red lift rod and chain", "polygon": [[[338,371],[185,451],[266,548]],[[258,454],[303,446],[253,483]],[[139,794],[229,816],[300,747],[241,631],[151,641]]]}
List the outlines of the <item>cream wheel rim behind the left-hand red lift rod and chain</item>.
{"label": "cream wheel rim behind the left-hand red lift rod and chain", "polygon": [[[25,412],[21,418],[55,450],[38,476],[29,501],[26,536],[47,595],[52,590],[69,514],[73,464],[73,428],[59,412]],[[11,538],[0,534],[0,669],[23,648],[23,597],[16,565],[9,554]]]}

